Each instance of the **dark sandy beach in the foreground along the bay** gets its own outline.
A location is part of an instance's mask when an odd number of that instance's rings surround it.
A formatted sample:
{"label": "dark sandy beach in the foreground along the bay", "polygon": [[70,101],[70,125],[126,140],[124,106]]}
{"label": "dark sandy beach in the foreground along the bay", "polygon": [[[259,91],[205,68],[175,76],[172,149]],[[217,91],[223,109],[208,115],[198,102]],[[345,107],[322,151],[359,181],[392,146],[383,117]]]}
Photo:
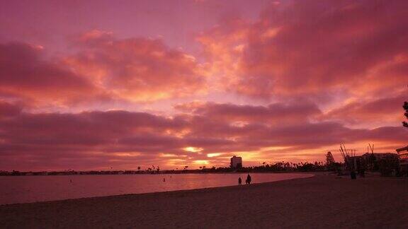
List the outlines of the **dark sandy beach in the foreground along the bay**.
{"label": "dark sandy beach in the foreground along the bay", "polygon": [[0,206],[0,228],[408,228],[408,180],[314,177]]}

